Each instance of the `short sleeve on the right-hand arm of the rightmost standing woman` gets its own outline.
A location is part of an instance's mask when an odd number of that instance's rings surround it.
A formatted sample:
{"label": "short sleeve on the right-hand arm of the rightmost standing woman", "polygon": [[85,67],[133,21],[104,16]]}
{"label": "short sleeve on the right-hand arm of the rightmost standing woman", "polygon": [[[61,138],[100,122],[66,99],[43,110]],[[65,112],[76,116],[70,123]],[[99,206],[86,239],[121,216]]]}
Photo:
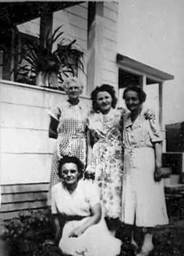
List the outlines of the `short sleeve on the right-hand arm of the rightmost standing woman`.
{"label": "short sleeve on the right-hand arm of the rightmost standing woman", "polygon": [[158,125],[158,121],[156,121],[155,118],[152,118],[149,120],[149,123],[150,123],[149,135],[152,143],[162,142],[160,125]]}

